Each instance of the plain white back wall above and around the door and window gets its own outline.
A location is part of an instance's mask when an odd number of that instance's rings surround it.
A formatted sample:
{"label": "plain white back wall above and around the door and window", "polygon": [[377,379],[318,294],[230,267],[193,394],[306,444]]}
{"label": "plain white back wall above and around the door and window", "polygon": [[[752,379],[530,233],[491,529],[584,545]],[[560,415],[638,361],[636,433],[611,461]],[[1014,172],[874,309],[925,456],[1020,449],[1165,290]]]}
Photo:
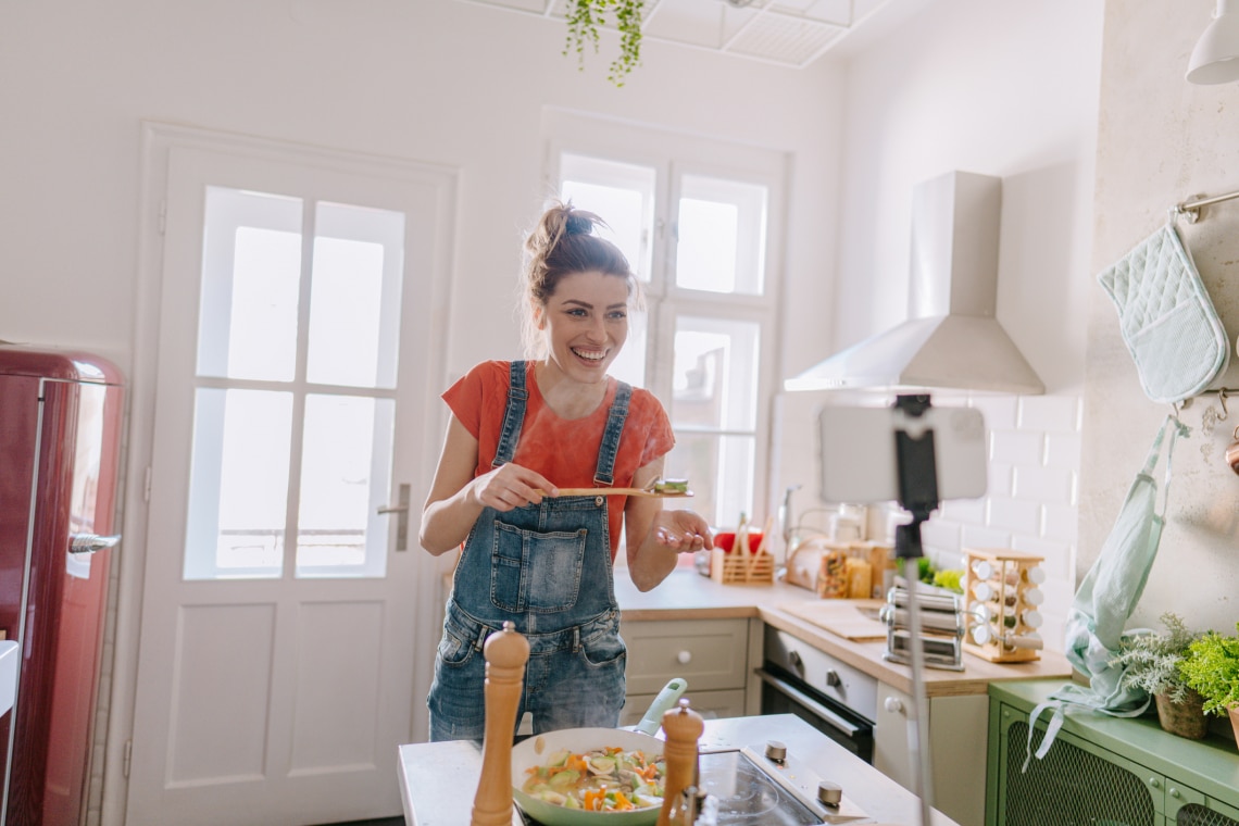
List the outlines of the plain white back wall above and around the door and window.
{"label": "plain white back wall above and around the door and window", "polygon": [[[520,239],[544,194],[544,107],[788,152],[783,329],[820,336],[838,223],[838,68],[648,43],[615,88],[617,38],[603,35],[577,72],[561,56],[565,33],[559,21],[455,0],[0,4],[0,339],[94,350],[142,375],[134,368],[151,354],[134,350],[136,307],[157,302],[135,295],[139,149],[141,121],[155,120],[458,170],[445,370],[515,355]],[[133,405],[152,398],[149,384],[131,386]],[[105,822],[123,810],[144,554],[130,540],[116,566]]]}

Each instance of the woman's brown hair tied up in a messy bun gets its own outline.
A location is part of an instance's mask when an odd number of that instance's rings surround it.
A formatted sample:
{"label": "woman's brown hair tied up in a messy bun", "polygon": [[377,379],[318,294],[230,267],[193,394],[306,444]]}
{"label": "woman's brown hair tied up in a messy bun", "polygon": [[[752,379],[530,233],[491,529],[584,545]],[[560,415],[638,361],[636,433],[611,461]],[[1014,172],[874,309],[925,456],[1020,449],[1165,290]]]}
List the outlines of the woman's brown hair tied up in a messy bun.
{"label": "woman's brown hair tied up in a messy bun", "polygon": [[[628,259],[620,248],[595,234],[607,223],[592,212],[577,209],[571,202],[555,202],[538,219],[525,238],[524,295],[533,306],[545,307],[565,275],[602,272],[628,282],[628,295],[637,293],[637,279]],[[527,354],[541,355],[541,337],[533,323],[533,313],[524,315]]]}

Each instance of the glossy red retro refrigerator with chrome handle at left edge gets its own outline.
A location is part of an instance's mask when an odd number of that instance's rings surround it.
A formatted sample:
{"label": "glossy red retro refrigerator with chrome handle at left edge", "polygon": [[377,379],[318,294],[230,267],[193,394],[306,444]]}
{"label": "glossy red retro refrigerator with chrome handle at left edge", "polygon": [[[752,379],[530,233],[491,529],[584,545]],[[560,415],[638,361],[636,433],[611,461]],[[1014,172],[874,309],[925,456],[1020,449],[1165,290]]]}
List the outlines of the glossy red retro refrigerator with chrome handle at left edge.
{"label": "glossy red retro refrigerator with chrome handle at left edge", "polygon": [[2,826],[85,822],[121,393],[99,357],[0,344],[0,632],[20,646]]}

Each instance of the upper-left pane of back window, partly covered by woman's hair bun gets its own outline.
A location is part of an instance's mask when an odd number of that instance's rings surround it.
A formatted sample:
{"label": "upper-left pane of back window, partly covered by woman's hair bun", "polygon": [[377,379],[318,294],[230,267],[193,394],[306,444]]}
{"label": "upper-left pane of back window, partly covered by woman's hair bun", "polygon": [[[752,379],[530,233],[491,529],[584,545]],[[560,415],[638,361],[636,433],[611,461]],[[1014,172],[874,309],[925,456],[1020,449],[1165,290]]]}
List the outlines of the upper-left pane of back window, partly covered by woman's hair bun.
{"label": "upper-left pane of back window, partly covered by woman's hair bun", "polygon": [[649,280],[654,227],[653,167],[603,161],[565,152],[560,159],[560,197],[572,206],[596,212],[610,227],[603,238],[613,241],[628,266]]}

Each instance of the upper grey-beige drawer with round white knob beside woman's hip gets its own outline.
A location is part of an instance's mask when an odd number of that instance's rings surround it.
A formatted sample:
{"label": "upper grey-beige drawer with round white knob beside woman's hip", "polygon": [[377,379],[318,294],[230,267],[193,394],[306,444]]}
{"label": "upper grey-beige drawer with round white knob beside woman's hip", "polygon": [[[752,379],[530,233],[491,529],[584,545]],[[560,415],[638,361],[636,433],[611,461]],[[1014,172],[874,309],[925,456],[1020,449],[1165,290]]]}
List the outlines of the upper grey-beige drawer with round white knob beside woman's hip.
{"label": "upper grey-beige drawer with round white knob beside woman's hip", "polygon": [[678,619],[622,623],[628,644],[628,693],[657,695],[672,677],[688,693],[745,687],[747,619]]}

